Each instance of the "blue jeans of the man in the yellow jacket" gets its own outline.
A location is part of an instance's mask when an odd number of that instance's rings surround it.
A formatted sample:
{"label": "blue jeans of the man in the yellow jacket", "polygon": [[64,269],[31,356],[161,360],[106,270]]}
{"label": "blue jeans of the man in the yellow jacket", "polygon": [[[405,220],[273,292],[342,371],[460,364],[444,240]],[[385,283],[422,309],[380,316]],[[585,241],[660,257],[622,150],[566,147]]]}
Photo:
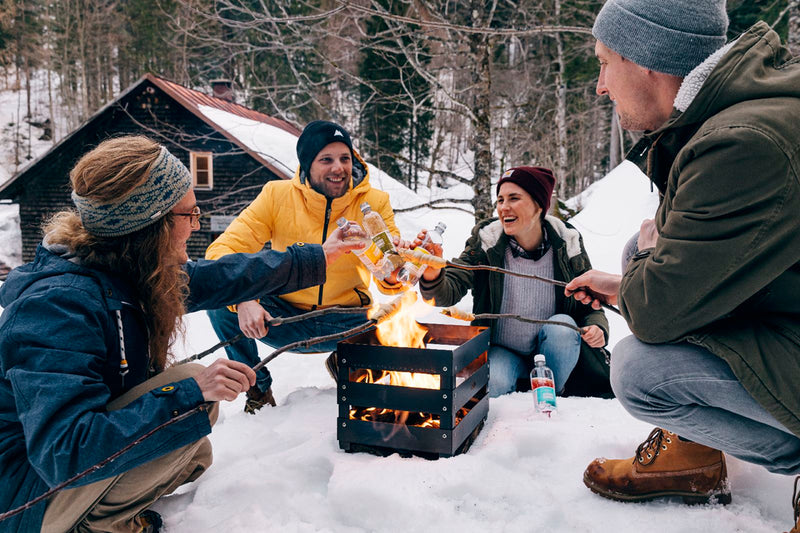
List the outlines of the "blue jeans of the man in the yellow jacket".
{"label": "blue jeans of the man in the yellow jacket", "polygon": [[[277,296],[265,296],[261,298],[260,302],[261,307],[266,309],[274,318],[296,316],[307,312],[286,303]],[[208,318],[211,319],[211,326],[214,328],[214,332],[220,340],[230,339],[242,332],[239,329],[239,315],[232,313],[226,307],[209,310],[207,313]],[[292,324],[270,327],[266,337],[262,337],[258,340],[272,348],[280,348],[281,346],[286,346],[287,344],[300,340],[310,339],[311,337],[320,337],[322,335],[331,335],[333,333],[347,331],[366,321],[366,312],[358,314],[330,313]],[[308,348],[296,348],[294,351],[301,353],[330,352],[336,349],[337,342],[338,341],[323,342],[314,344]],[[251,367],[255,366],[260,361],[258,357],[258,348],[253,339],[245,338],[230,346],[226,346],[225,352],[228,354],[228,359],[239,361]],[[272,375],[270,375],[269,369],[267,369],[266,366],[256,373],[256,386],[262,392],[272,386]]]}

